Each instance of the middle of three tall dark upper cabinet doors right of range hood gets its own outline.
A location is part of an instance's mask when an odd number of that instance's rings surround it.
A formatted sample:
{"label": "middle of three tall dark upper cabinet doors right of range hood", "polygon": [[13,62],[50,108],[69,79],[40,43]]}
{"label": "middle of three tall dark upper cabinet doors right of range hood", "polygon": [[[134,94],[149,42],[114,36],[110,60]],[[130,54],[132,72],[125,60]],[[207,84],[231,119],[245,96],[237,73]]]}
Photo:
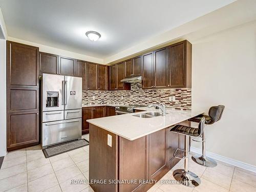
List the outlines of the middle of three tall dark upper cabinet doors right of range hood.
{"label": "middle of three tall dark upper cabinet doors right of range hood", "polygon": [[166,88],[168,81],[167,48],[154,51],[154,56],[154,86],[155,88]]}

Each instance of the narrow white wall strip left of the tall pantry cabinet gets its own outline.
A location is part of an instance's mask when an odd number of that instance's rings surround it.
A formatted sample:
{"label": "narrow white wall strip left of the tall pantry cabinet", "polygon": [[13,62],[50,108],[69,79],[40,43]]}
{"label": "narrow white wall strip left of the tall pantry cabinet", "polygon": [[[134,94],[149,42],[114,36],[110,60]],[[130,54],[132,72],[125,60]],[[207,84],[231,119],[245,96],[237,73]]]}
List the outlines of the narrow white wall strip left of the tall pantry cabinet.
{"label": "narrow white wall strip left of the tall pantry cabinet", "polygon": [[6,40],[0,39],[0,157],[6,155]]}

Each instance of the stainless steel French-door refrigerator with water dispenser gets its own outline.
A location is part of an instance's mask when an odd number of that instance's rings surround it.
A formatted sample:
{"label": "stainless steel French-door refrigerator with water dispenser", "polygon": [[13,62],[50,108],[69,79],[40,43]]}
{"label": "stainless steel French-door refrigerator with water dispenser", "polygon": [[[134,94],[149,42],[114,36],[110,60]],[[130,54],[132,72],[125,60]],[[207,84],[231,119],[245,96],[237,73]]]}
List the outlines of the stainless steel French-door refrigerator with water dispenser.
{"label": "stainless steel French-door refrigerator with water dispenser", "polygon": [[82,78],[42,74],[41,145],[81,139]]}

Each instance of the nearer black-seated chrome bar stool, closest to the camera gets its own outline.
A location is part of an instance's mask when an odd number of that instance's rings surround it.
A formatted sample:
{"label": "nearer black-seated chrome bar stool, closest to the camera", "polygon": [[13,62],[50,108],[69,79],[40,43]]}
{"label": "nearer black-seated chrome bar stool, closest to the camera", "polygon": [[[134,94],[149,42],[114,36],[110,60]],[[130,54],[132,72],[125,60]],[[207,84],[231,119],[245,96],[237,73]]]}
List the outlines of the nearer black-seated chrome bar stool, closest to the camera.
{"label": "nearer black-seated chrome bar stool, closest to the camera", "polygon": [[[188,187],[194,187],[198,186],[201,183],[200,178],[190,172],[188,170],[188,151],[189,151],[189,137],[201,137],[203,134],[204,126],[205,126],[205,119],[204,117],[201,118],[198,129],[184,126],[184,125],[175,125],[170,131],[178,134],[185,135],[185,150],[182,150],[180,148],[177,148],[174,152],[174,157],[179,159],[185,159],[184,162],[184,169],[176,169],[173,173],[174,178],[177,181],[181,181],[181,184],[188,186]],[[185,152],[185,156],[183,158],[180,158],[176,155],[177,151],[183,151]]]}

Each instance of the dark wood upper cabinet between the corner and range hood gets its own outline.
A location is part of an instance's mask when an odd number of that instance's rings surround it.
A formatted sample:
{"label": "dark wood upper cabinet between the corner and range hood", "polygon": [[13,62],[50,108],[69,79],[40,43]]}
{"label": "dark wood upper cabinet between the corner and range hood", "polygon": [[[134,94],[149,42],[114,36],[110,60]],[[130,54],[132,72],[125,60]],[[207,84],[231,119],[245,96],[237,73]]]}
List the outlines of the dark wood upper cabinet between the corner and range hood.
{"label": "dark wood upper cabinet between the corner and range hood", "polygon": [[131,90],[131,83],[121,82],[125,77],[124,62],[110,66],[110,90]]}

